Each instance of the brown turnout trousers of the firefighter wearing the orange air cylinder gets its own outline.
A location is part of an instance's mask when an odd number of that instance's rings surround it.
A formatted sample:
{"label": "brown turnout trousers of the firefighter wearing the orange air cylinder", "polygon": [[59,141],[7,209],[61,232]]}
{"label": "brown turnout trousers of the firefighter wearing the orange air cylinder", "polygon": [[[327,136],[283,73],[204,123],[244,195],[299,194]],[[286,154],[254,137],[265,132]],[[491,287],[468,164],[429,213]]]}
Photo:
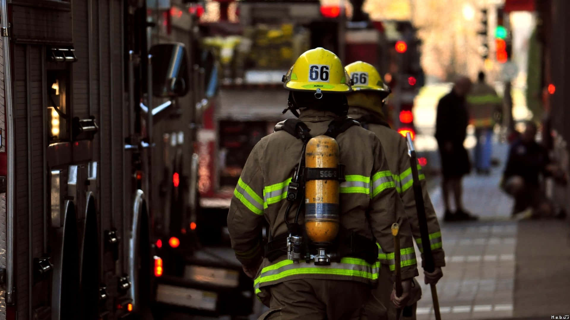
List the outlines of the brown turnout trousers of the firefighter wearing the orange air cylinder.
{"label": "brown turnout trousers of the firefighter wearing the orange air cylinder", "polygon": [[370,296],[367,284],[343,280],[289,280],[268,291],[269,310],[258,320],[357,320]]}

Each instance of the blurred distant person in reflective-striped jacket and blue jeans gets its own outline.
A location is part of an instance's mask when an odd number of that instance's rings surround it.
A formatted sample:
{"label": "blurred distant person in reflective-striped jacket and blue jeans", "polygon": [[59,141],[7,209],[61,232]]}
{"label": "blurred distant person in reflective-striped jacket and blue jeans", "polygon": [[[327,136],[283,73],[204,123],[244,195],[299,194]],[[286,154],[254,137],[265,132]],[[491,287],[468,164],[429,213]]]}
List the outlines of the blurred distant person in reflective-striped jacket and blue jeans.
{"label": "blurred distant person in reflective-striped jacket and blue jeans", "polygon": [[469,123],[475,126],[475,169],[478,174],[491,172],[491,138],[495,125],[495,114],[502,112],[503,99],[497,95],[495,89],[485,83],[485,74],[479,72],[477,83],[473,84],[467,105],[469,110]]}

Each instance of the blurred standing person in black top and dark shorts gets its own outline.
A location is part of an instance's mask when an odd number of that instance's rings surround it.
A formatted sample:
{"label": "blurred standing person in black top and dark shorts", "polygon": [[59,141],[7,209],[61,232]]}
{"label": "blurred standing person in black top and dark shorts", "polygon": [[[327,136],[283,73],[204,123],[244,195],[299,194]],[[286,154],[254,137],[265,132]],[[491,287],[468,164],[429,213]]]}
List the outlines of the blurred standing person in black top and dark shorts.
{"label": "blurred standing person in black top and dark shorts", "polygon": [[[445,205],[444,221],[477,220],[465,210],[462,202],[461,179],[471,171],[469,155],[463,146],[467,136],[467,93],[471,89],[471,81],[467,77],[459,77],[450,93],[443,96],[437,105],[435,123],[435,139],[441,156],[443,174],[442,195]],[[455,212],[449,206],[449,194],[453,192]]]}

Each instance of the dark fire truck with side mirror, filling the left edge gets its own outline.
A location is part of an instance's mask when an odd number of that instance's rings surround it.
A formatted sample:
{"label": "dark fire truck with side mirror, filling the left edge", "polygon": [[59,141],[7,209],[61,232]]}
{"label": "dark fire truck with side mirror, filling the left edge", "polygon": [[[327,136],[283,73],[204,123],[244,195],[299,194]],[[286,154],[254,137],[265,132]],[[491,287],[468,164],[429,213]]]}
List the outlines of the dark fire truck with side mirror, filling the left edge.
{"label": "dark fire truck with side mirror, filling the left edge", "polygon": [[180,294],[158,240],[195,220],[207,102],[196,35],[153,40],[148,9],[0,1],[0,319],[148,318]]}

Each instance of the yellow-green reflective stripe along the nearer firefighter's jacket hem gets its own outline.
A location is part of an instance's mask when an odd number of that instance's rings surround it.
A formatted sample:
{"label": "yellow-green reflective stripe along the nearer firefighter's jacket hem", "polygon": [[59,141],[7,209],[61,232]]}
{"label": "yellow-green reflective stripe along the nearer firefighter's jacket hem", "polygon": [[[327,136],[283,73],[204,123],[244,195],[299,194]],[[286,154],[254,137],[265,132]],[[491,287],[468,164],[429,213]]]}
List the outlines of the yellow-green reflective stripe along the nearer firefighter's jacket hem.
{"label": "yellow-green reflective stripe along the nearer firefighter's jacket hem", "polygon": [[370,265],[362,259],[350,257],[343,258],[340,262],[331,262],[328,266],[315,265],[313,262],[294,263],[292,260],[283,260],[263,268],[259,277],[254,280],[254,288],[257,291],[266,282],[298,274],[333,274],[376,281],[378,280],[378,264]]}

